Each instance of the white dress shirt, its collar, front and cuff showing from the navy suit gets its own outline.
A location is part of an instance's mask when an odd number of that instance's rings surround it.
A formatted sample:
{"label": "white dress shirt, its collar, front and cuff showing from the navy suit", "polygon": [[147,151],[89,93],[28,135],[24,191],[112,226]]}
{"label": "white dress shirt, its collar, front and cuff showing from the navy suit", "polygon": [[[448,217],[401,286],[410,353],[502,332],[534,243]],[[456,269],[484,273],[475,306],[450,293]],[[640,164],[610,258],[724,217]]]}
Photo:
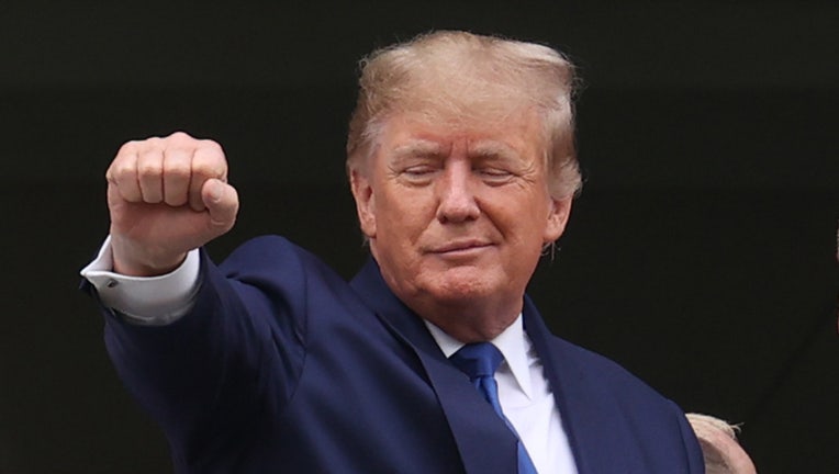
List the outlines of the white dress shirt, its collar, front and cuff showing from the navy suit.
{"label": "white dress shirt, its collar, front and cuff showing from the navy suit", "polygon": [[[171,273],[138,278],[114,273],[110,237],[99,256],[81,270],[107,307],[133,324],[160,326],[189,313],[200,287],[198,250],[188,253]],[[425,321],[443,353],[448,358],[463,343],[443,329]],[[504,362],[495,372],[502,410],[515,427],[537,471],[577,474],[559,408],[530,338],[524,331],[522,315],[491,341]]]}

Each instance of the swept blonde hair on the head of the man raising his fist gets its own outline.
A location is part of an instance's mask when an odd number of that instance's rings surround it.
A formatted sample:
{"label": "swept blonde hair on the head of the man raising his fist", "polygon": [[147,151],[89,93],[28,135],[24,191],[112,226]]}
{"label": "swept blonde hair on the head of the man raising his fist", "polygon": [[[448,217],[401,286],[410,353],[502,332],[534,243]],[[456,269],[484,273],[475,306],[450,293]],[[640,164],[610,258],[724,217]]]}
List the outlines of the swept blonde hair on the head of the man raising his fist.
{"label": "swept blonde hair on the head of the man raising his fist", "polygon": [[412,112],[452,124],[536,111],[555,198],[579,191],[572,95],[574,68],[547,46],[439,31],[371,53],[360,61],[359,93],[349,122],[347,170],[374,154],[387,120]]}

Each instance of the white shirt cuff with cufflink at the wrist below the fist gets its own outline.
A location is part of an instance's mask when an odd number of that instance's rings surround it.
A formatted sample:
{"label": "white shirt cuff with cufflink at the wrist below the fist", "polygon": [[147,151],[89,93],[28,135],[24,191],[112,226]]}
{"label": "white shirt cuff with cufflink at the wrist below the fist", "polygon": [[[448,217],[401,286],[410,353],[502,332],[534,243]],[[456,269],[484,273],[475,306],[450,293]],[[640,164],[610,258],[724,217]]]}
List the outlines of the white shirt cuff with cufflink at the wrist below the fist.
{"label": "white shirt cuff with cufflink at the wrist below the fist", "polygon": [[195,249],[167,274],[143,278],[114,273],[109,236],[99,256],[81,269],[81,276],[97,289],[104,306],[121,313],[130,323],[163,326],[176,321],[194,306],[200,289],[199,268]]}

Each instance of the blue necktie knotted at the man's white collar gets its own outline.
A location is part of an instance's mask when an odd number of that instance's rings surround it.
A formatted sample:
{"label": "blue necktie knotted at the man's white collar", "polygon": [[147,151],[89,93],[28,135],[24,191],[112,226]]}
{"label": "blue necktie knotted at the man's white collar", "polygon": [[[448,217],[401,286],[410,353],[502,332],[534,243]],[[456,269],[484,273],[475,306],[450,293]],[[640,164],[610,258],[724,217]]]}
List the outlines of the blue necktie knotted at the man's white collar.
{"label": "blue necktie knotted at the man's white collar", "polygon": [[[504,416],[501,403],[499,403],[499,384],[495,382],[495,370],[504,360],[501,351],[490,342],[476,342],[463,346],[451,354],[449,360],[461,372],[469,375],[469,380],[478,388],[478,392],[486,398],[495,413],[518,438],[518,433],[507,417]],[[518,474],[538,474],[521,439],[518,440]]]}

